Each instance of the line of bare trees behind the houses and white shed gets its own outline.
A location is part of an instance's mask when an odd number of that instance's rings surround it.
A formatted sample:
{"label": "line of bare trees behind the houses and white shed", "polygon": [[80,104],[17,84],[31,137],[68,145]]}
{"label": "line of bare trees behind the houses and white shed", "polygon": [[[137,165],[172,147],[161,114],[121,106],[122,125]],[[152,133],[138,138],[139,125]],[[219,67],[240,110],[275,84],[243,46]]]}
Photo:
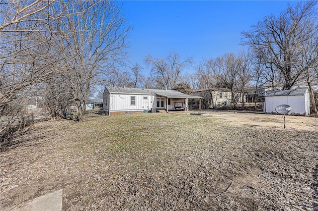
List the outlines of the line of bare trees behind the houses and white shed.
{"label": "line of bare trees behind the houses and white shed", "polygon": [[[265,16],[241,35],[245,51],[203,59],[192,74],[182,75],[178,68],[190,65],[191,59],[175,63],[170,54],[167,59],[146,57],[155,85],[169,89],[182,82],[193,90],[228,88],[236,106],[247,92],[256,98],[263,84],[289,90],[302,83],[309,89],[312,111],[318,113],[313,88],[318,85],[317,1],[288,4],[279,15]],[[210,95],[213,106],[211,90]]]}

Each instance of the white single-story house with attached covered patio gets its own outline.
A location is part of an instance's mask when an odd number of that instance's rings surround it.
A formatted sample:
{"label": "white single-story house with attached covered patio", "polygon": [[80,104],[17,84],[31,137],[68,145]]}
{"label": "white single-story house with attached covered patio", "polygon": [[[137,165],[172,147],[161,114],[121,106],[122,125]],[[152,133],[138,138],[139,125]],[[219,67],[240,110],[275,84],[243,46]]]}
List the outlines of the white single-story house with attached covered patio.
{"label": "white single-story house with attached covered patio", "polygon": [[103,93],[103,109],[108,114],[157,110],[188,110],[188,99],[201,99],[175,90],[106,87]]}

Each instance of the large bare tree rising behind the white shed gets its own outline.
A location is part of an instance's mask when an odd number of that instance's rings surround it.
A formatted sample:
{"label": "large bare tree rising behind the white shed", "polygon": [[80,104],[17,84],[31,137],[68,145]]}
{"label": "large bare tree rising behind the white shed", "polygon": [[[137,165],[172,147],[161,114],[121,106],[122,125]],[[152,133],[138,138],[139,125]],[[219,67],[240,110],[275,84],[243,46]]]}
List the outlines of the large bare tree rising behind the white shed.
{"label": "large bare tree rising behind the white shed", "polygon": [[244,44],[262,52],[266,65],[279,71],[283,89],[290,89],[300,79],[303,69],[297,68],[299,44],[315,33],[307,27],[316,11],[316,1],[301,1],[288,5],[279,16],[266,16],[249,32],[242,32]]}

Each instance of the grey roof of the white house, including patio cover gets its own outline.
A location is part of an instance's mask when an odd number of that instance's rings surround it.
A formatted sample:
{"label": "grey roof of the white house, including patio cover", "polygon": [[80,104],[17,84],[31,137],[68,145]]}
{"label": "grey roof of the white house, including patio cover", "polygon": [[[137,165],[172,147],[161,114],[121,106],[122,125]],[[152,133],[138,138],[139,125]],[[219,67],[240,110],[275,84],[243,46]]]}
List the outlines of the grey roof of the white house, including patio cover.
{"label": "grey roof of the white house, including patio cover", "polygon": [[129,87],[106,87],[110,94],[135,94],[135,95],[159,95],[166,98],[202,98],[199,96],[187,95],[175,90],[140,89]]}

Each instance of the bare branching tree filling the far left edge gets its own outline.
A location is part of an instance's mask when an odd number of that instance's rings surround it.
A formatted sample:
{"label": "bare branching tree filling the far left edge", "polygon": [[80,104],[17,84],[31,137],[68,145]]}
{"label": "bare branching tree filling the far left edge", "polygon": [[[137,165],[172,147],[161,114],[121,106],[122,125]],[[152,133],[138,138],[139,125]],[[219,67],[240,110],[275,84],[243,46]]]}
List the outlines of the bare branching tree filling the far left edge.
{"label": "bare branching tree filling the far left edge", "polygon": [[65,65],[54,46],[59,35],[48,24],[64,15],[56,12],[54,3],[7,0],[0,4],[1,136],[17,121],[25,125],[26,99],[32,99],[37,86]]}

